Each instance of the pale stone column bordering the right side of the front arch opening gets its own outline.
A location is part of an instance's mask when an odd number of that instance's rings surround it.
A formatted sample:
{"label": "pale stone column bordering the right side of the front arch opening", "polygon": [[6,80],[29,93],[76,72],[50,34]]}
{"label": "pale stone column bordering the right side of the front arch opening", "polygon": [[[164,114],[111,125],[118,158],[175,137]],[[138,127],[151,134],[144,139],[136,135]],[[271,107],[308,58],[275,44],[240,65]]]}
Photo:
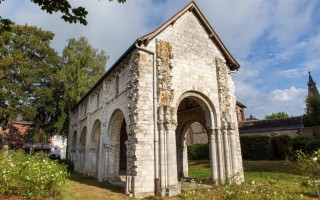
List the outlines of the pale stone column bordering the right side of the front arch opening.
{"label": "pale stone column bordering the right side of the front arch opening", "polygon": [[207,134],[209,138],[209,154],[210,154],[210,169],[211,179],[213,182],[217,182],[218,177],[218,159],[217,159],[217,143],[215,130],[212,127],[207,128]]}

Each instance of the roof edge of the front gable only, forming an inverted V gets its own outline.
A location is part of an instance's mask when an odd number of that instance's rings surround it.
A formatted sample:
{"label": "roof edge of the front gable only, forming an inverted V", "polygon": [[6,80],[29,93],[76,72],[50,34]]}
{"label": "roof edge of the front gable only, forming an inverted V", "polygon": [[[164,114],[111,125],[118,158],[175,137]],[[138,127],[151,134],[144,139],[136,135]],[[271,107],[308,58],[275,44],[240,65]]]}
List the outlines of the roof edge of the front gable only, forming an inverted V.
{"label": "roof edge of the front gable only, forming an inverted V", "polygon": [[186,7],[184,7],[182,10],[180,10],[176,15],[171,17],[168,21],[163,23],[159,28],[152,31],[151,33],[148,33],[142,37],[140,37],[138,40],[141,43],[148,43],[151,39],[156,37],[159,33],[161,33],[165,28],[167,28],[169,25],[173,24],[179,17],[181,17],[184,13],[187,11],[192,11],[199,19],[201,24],[204,26],[206,31],[208,32],[209,37],[215,42],[215,44],[218,46],[218,48],[221,50],[222,54],[225,56],[227,65],[231,70],[239,69],[240,65],[239,63],[233,58],[233,56],[230,54],[228,49],[224,46],[216,32],[213,30],[207,19],[204,17],[200,9],[198,8],[197,4],[194,1],[191,1]]}

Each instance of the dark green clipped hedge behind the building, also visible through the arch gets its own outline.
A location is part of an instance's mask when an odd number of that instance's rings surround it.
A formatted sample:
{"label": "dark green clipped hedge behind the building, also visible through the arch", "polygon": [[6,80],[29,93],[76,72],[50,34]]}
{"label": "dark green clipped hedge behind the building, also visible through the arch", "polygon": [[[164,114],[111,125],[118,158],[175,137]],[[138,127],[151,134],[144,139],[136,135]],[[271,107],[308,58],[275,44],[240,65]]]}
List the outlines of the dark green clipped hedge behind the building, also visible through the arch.
{"label": "dark green clipped hedge behind the building, also visible through the arch", "polygon": [[[291,138],[287,135],[275,137],[263,135],[241,135],[241,152],[244,160],[284,160],[295,158],[295,152],[302,150],[313,153],[320,148],[320,139],[306,136]],[[209,160],[208,144],[188,145],[189,160]]]}

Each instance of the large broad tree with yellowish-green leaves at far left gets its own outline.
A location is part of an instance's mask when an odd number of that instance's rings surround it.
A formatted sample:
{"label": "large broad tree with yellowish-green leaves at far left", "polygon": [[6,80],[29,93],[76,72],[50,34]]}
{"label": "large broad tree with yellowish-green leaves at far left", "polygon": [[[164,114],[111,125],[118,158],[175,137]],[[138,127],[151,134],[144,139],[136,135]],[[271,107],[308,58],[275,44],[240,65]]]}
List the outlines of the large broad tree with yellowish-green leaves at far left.
{"label": "large broad tree with yellowish-green leaves at far left", "polygon": [[0,34],[0,122],[18,115],[35,130],[54,132],[59,115],[61,59],[50,47],[54,34],[34,26],[13,25]]}

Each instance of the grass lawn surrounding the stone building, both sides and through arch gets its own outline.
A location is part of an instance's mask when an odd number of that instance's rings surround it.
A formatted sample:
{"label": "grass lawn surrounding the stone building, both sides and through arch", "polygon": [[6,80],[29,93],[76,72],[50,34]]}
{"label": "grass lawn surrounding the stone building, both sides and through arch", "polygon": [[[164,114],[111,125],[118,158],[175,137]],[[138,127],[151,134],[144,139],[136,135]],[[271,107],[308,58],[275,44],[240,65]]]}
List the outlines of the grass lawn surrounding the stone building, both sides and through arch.
{"label": "grass lawn surrounding the stone building, both sides and through arch", "polygon": [[[316,199],[315,190],[302,184],[306,178],[287,161],[244,161],[244,175],[245,183],[241,185],[203,187],[182,183],[184,190],[180,196],[165,199]],[[189,176],[209,179],[209,161],[190,162]],[[132,199],[123,192],[121,187],[74,173],[62,192],[62,199]]]}

